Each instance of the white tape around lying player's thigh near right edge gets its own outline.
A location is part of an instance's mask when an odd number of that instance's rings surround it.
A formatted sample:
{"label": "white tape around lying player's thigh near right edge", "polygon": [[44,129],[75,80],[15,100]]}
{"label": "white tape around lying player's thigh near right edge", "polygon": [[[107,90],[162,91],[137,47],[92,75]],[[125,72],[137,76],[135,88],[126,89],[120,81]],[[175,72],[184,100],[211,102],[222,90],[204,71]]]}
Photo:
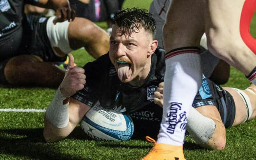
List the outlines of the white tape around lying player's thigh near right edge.
{"label": "white tape around lying player's thigh near right edge", "polygon": [[[247,109],[247,117],[246,119],[243,121],[246,122],[250,119],[250,117],[252,116],[252,104],[251,104],[251,101],[250,101],[250,98],[247,96],[246,93],[244,93],[242,90],[239,90],[237,88],[232,88],[233,90],[235,90],[239,96],[242,98],[242,100],[244,101],[244,104],[246,106],[246,109]],[[249,90],[248,90],[249,91]],[[249,91],[250,92],[250,91]]]}

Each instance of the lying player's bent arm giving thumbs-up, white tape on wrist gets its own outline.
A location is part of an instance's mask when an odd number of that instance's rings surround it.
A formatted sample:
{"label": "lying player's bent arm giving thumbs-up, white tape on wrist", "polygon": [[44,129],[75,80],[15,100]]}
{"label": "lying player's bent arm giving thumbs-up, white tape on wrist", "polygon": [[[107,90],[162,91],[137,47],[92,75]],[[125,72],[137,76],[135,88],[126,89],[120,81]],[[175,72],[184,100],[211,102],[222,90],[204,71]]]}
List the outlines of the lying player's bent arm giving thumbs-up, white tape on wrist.
{"label": "lying player's bent arm giving thumbs-up, white tape on wrist", "polygon": [[68,54],[68,69],[52,102],[46,109],[44,138],[57,141],[68,136],[89,110],[85,104],[70,98],[84,88],[84,68],[74,67],[74,57]]}

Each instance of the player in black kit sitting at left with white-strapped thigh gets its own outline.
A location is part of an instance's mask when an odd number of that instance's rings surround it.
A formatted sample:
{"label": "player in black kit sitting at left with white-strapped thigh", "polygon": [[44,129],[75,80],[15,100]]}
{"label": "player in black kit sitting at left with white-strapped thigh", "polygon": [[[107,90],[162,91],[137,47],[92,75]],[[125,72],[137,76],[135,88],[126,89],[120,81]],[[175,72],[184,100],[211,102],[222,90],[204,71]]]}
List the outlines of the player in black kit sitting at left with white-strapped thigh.
{"label": "player in black kit sitting at left with white-strapped thigh", "polygon": [[74,19],[66,0],[26,1],[53,6],[58,18],[26,16],[25,2],[6,2],[0,12],[0,84],[57,87],[65,70],[52,62],[64,62],[70,51],[80,47],[94,58],[108,51],[108,34],[89,20]]}

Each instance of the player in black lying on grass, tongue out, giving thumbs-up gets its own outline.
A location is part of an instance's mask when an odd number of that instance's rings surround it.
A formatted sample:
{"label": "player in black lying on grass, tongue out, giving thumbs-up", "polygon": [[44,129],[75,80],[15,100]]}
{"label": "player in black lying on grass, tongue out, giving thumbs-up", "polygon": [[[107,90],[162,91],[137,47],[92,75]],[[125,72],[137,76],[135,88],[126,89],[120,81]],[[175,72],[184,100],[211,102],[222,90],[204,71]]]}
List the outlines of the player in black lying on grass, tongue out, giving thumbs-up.
{"label": "player in black lying on grass, tongue out, giving thumbs-up", "polygon": [[[134,135],[158,134],[162,119],[162,107],[159,105],[162,106],[165,63],[164,50],[157,48],[158,42],[154,40],[155,21],[145,10],[135,8],[116,13],[114,21],[108,54],[87,63],[83,68],[74,68],[74,58],[68,55],[66,76],[45,113],[46,141],[67,137],[90,107],[98,104],[130,114],[134,122]],[[247,110],[235,90],[227,89],[227,92],[202,78],[202,88],[193,105],[196,109],[191,107],[193,114],[188,117],[188,131],[198,144],[220,150],[225,146],[224,125],[238,125],[247,117],[252,119],[255,116],[255,98],[252,99],[255,95],[253,89],[244,91],[247,104],[252,104],[248,105]],[[230,94],[235,96],[235,102]],[[247,116],[248,111],[249,115],[253,114]],[[187,119],[180,121],[183,123]],[[222,135],[218,137],[220,133]]]}

